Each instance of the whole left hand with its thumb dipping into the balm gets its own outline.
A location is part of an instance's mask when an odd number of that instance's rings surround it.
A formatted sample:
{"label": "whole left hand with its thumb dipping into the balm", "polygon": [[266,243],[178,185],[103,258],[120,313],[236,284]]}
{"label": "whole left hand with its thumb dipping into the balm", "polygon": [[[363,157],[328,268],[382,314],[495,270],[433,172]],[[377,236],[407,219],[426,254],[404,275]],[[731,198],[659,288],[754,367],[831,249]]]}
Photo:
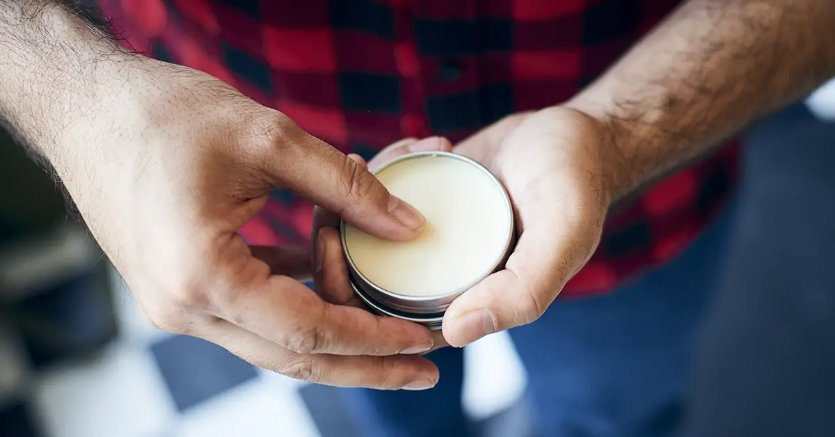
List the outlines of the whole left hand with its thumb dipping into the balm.
{"label": "whole left hand with its thumb dipping into the balm", "polygon": [[119,73],[48,158],[154,325],[317,383],[438,381],[433,363],[408,355],[432,346],[426,328],[324,302],[294,279],[311,273],[306,249],[251,247],[235,232],[275,187],[393,240],[422,231],[419,213],[217,79],[150,59]]}

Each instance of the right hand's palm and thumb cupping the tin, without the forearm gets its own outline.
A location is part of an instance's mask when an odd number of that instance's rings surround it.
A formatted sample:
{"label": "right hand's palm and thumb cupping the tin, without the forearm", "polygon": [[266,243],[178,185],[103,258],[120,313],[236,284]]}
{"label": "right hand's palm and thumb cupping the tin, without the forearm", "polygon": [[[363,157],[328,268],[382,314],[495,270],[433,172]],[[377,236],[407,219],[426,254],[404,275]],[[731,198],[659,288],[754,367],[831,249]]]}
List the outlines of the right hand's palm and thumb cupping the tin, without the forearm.
{"label": "right hand's palm and thumb cupping the tin, without the forearm", "polygon": [[501,120],[455,147],[488,167],[514,204],[519,241],[499,272],[458,297],[443,336],[462,347],[534,322],[600,242],[610,204],[601,147],[608,130],[574,109]]}

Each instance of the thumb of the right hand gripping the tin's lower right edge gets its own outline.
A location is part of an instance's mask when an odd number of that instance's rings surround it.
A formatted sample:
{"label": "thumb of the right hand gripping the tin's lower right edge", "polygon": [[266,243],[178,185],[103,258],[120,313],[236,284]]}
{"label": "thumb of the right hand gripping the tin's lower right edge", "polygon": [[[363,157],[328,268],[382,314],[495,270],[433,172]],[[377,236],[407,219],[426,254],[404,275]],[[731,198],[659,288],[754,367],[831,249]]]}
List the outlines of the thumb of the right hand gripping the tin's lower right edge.
{"label": "thumb of the right hand gripping the tin's lower right edge", "polygon": [[[520,222],[525,226],[504,270],[488,276],[448,307],[443,335],[449,344],[462,347],[485,335],[534,322],[595,252],[605,212],[571,206],[575,202],[554,189],[565,183],[545,179],[543,185],[544,190],[533,188],[519,196]],[[563,201],[533,202],[549,198]],[[554,226],[554,217],[560,218],[559,226]]]}

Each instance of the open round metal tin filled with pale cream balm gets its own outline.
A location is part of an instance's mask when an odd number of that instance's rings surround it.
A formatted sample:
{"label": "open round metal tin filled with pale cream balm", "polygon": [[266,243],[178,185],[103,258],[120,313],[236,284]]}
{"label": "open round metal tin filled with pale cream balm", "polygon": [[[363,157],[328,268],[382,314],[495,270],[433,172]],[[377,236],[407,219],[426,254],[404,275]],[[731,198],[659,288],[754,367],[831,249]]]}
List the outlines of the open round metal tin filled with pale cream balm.
{"label": "open round metal tin filled with pale cream balm", "polygon": [[387,241],[342,222],[354,292],[376,313],[441,328],[453,300],[503,267],[514,242],[504,186],[463,155],[417,152],[374,171],[426,217],[412,241]]}

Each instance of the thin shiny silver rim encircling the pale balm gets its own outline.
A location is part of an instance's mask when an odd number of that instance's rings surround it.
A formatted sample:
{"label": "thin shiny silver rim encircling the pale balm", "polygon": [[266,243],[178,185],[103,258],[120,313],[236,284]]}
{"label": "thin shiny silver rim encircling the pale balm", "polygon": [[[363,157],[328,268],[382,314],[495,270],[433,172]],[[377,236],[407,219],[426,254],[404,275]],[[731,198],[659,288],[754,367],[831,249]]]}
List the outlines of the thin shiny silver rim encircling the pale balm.
{"label": "thin shiny silver rim encircling the pale balm", "polygon": [[[459,287],[459,288],[453,290],[452,292],[443,292],[443,293],[433,294],[433,295],[428,295],[428,296],[408,296],[408,295],[405,295],[405,294],[399,294],[399,293],[396,293],[396,292],[388,291],[385,288],[382,288],[382,287],[378,286],[377,284],[375,284],[374,282],[372,282],[362,272],[360,272],[360,269],[357,267],[357,264],[354,263],[354,261],[351,257],[351,253],[348,251],[348,245],[347,245],[347,240],[346,240],[346,232],[345,232],[347,222],[344,221],[344,220],[340,221],[339,231],[340,231],[340,240],[342,242],[342,253],[345,256],[345,259],[348,263],[349,271],[357,276],[357,278],[356,278],[357,282],[359,282],[359,281],[364,282],[364,284],[367,284],[368,287],[371,287],[372,290],[374,290],[374,292],[378,292],[378,293],[381,293],[382,295],[385,295],[387,297],[393,297],[395,299],[398,299],[398,300],[401,300],[401,301],[406,301],[406,302],[426,302],[426,301],[433,301],[433,300],[439,300],[439,299],[443,300],[444,298],[448,298],[448,297],[458,297],[458,295],[462,294],[463,292],[466,292],[468,289],[472,288],[478,282],[482,282],[484,280],[484,278],[493,274],[493,272],[495,272],[496,269],[499,266],[501,266],[502,263],[504,263],[506,261],[507,256],[508,256],[508,252],[510,250],[510,246],[513,244],[513,241],[514,241],[514,235],[515,235],[515,229],[516,229],[516,225],[514,223],[513,203],[510,201],[510,196],[508,194],[508,191],[504,188],[504,185],[502,184],[502,182],[500,180],[498,180],[498,178],[495,175],[493,175],[493,173],[491,173],[490,170],[487,169],[487,167],[479,164],[476,160],[472,160],[472,159],[470,159],[470,158],[468,158],[464,155],[458,155],[456,153],[442,152],[442,151],[412,152],[412,153],[407,154],[407,155],[398,156],[397,158],[395,158],[393,160],[390,160],[383,165],[380,165],[380,167],[378,167],[376,170],[372,171],[372,174],[377,175],[377,173],[380,173],[382,170],[386,170],[388,167],[390,167],[392,165],[396,165],[396,164],[398,164],[402,161],[414,160],[414,159],[423,158],[423,157],[426,157],[426,156],[433,157],[433,158],[443,157],[443,158],[452,158],[452,159],[455,159],[455,160],[461,160],[463,162],[468,163],[469,165],[473,165],[475,168],[477,168],[478,170],[481,170],[485,175],[487,175],[488,178],[493,181],[493,184],[498,186],[499,191],[502,193],[502,198],[504,200],[504,204],[506,206],[506,211],[507,211],[507,214],[508,214],[508,225],[509,226],[508,226],[508,229],[506,231],[507,232],[507,237],[505,238],[504,248],[502,249],[501,252],[498,253],[498,257],[496,257],[496,260],[493,261],[493,264],[491,264],[490,267],[488,267],[488,269],[485,272],[483,272],[481,275],[479,275],[476,279],[474,279],[471,282],[468,282],[463,287]],[[356,286],[357,286],[357,288],[361,288],[361,287],[359,287],[358,283],[356,284]],[[449,306],[449,303],[446,303],[443,306],[443,308],[438,308],[438,309],[439,310],[444,310],[448,306]],[[397,316],[397,317],[400,317],[400,316]]]}

